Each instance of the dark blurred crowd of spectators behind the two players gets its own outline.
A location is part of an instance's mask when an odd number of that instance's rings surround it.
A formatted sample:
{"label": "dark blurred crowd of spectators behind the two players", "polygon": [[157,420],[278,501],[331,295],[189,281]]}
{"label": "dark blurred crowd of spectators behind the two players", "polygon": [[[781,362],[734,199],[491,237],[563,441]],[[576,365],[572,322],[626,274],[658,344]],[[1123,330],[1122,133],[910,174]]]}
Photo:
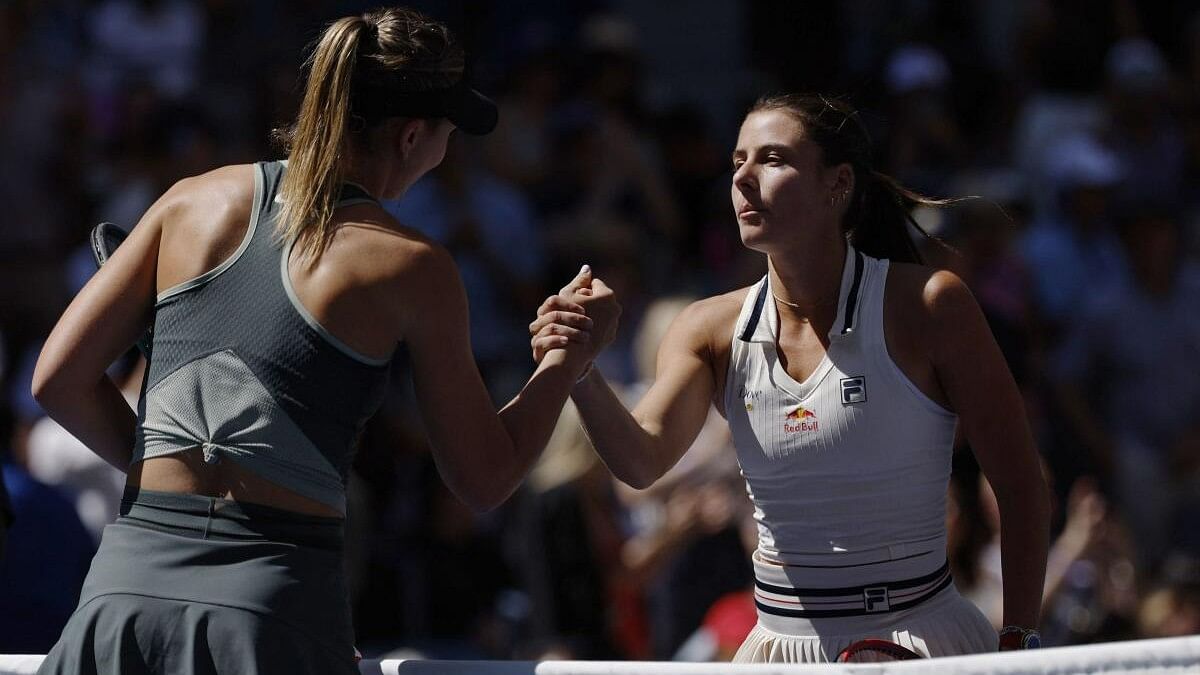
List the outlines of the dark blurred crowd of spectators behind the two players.
{"label": "dark blurred crowd of spectators behind the two players", "polygon": [[[0,6],[0,652],[50,647],[119,508],[124,476],[29,394],[41,340],[92,271],[88,231],[132,227],[182,177],[278,157],[305,46],[374,4]],[[634,405],[676,312],[766,269],[730,204],[742,114],[768,91],[839,95],[878,168],[977,197],[914,217],[941,241],[926,261],[983,306],[1054,486],[1044,643],[1200,633],[1200,1],[412,5],[454,28],[500,103],[496,133],[456,137],[389,204],[457,258],[497,401],[533,369],[541,299],[589,263],[624,306],[598,365]],[[143,368],[110,370],[131,402]],[[526,486],[478,515],[438,479],[402,353],[395,371],[349,485],[364,653],[732,653],[754,623],[755,532],[715,411],[634,491],[569,407]],[[955,583],[998,623],[995,501],[958,450]]]}

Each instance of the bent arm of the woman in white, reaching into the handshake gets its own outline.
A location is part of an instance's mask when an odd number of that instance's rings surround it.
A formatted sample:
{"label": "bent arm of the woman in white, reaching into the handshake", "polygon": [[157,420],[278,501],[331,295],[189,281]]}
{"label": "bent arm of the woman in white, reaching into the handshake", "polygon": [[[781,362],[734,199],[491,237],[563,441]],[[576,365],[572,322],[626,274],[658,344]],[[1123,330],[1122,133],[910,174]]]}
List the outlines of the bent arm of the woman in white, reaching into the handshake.
{"label": "bent arm of the woman in white, reaching into the handshake", "polygon": [[[574,300],[593,316],[590,298],[575,295]],[[671,324],[659,347],[654,383],[632,413],[596,370],[571,392],[596,454],[613,476],[631,488],[648,488],[674,466],[704,424],[716,389],[707,339],[712,303],[694,303]],[[570,312],[562,297],[547,299],[542,310],[530,325],[535,335],[553,328],[562,312]]]}

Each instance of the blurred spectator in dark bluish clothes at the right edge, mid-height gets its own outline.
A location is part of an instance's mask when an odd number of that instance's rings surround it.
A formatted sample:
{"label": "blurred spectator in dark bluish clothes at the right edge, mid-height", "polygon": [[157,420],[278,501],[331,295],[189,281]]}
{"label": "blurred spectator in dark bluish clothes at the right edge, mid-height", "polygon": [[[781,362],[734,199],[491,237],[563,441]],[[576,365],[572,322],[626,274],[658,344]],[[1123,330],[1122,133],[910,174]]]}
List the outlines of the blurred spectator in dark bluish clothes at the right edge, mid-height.
{"label": "blurred spectator in dark bluish clothes at the right edge, mid-height", "polygon": [[1066,422],[1110,483],[1141,568],[1152,569],[1200,468],[1200,380],[1183,365],[1200,354],[1200,269],[1182,258],[1170,214],[1135,213],[1121,238],[1133,283],[1110,282],[1088,299],[1055,378]]}

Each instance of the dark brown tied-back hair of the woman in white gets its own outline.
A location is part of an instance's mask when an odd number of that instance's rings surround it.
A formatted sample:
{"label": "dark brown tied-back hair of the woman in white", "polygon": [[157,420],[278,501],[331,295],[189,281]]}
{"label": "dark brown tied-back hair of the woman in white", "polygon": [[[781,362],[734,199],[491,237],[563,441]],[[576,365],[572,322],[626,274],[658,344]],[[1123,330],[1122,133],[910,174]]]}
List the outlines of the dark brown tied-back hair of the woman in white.
{"label": "dark brown tied-back hair of the woman in white", "polygon": [[944,207],[958,199],[925,197],[871,168],[871,137],[858,113],[836,98],[810,94],[763,96],[746,115],[766,110],[785,110],[799,119],[805,137],[821,148],[827,167],[845,162],[854,171],[854,192],[842,229],[856,249],[875,258],[922,262],[908,235],[908,226],[934,238],[917,225],[912,209],[917,205]]}

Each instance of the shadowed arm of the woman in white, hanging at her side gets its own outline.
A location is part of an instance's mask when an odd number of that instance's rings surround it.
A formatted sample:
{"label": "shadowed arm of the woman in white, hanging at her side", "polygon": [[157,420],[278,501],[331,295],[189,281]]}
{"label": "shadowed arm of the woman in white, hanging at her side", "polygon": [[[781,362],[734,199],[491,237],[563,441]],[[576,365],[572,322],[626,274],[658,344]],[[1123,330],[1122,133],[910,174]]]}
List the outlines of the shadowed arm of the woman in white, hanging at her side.
{"label": "shadowed arm of the woman in white, hanging at her side", "polygon": [[1004,625],[1036,628],[1050,539],[1050,500],[1025,406],[988,322],[948,271],[924,288],[931,360],[1000,507]]}

